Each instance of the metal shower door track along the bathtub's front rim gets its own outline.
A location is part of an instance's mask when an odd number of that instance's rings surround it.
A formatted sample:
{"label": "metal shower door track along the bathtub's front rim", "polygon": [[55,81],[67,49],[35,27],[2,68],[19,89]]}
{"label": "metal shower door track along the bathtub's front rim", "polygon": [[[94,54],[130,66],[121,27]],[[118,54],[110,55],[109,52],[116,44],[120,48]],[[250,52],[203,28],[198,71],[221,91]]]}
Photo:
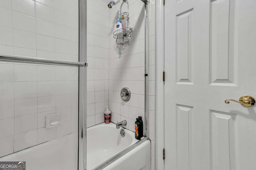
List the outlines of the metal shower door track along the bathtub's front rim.
{"label": "metal shower door track along the bathtub's front rim", "polygon": [[[141,145],[142,143],[144,143],[147,140],[149,140],[149,139],[147,137],[144,137],[140,141],[138,141],[138,142],[134,143],[133,145],[129,146],[128,148],[122,150],[121,152],[119,152],[115,156],[112,156],[111,158],[109,158],[105,162],[102,162],[100,165],[96,166],[92,170],[101,170],[101,169],[105,168],[106,166],[108,166],[109,164],[111,164],[115,160],[118,160],[121,156],[124,156],[126,153],[130,152],[132,149],[138,147],[139,145]],[[150,141],[150,143],[151,143],[151,141]]]}

